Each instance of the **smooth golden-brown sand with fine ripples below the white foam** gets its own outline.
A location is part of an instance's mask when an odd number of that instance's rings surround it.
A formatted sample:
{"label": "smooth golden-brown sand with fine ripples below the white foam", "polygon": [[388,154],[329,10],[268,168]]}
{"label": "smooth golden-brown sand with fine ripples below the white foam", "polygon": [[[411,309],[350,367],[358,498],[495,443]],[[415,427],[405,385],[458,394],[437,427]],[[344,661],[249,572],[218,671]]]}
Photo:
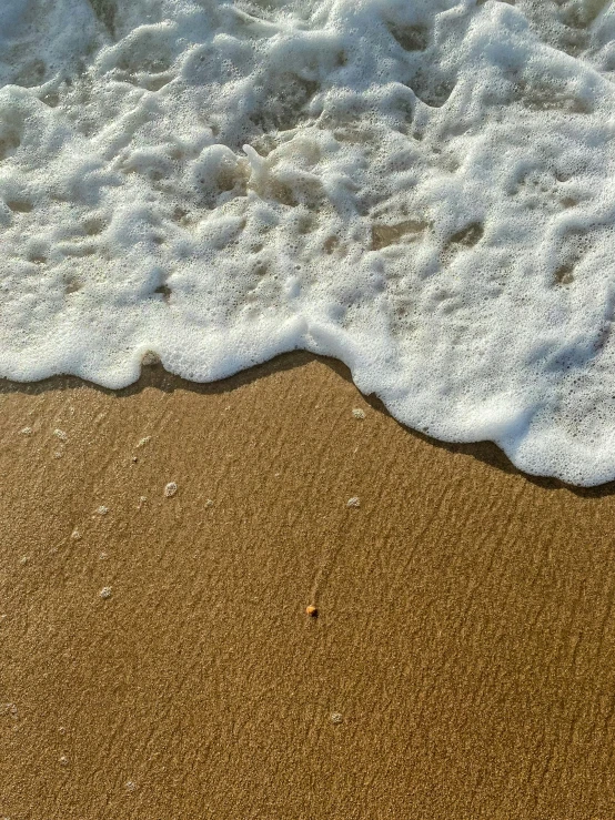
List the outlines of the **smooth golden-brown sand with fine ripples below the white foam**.
{"label": "smooth golden-brown sand with fine ripples below the white foam", "polygon": [[612,487],[303,354],[0,404],[0,818],[615,817]]}

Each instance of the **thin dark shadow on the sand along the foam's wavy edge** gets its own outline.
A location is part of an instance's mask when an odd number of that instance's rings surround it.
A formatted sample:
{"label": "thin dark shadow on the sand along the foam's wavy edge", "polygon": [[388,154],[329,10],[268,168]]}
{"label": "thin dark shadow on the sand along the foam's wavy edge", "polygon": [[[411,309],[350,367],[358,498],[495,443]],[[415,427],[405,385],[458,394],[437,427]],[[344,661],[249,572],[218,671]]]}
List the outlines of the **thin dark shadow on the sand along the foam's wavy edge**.
{"label": "thin dark shadow on the sand along the foam's wavy edge", "polygon": [[[122,389],[109,389],[108,387],[101,387],[92,382],[85,382],[77,376],[52,376],[51,378],[42,379],[41,382],[10,382],[8,379],[0,379],[0,395],[7,393],[22,393],[24,395],[41,395],[48,391],[56,389],[74,389],[83,386],[88,386],[105,395],[114,395],[119,398],[133,396],[141,393],[145,388],[154,388],[163,391],[164,393],[173,393],[178,389],[190,391],[200,395],[220,395],[224,393],[231,393],[232,391],[242,387],[243,385],[251,384],[260,378],[271,376],[274,373],[281,373],[289,371],[294,367],[302,367],[311,362],[319,361],[334,371],[339,376],[344,378],[346,382],[352,382],[350,369],[342,362],[335,358],[326,356],[316,356],[312,353],[304,351],[294,351],[292,353],[284,353],[270,362],[264,364],[255,365],[249,369],[241,371],[233,376],[228,378],[201,384],[198,382],[188,382],[180,376],[175,376],[172,373],[167,372],[160,365],[144,366],[141,371],[141,377],[134,384],[123,387]],[[364,396],[365,401],[379,413],[385,416],[392,417],[384,404],[375,395]],[[535,484],[542,489],[547,490],[559,490],[569,492],[582,498],[604,498],[606,496],[615,495],[615,480],[607,484],[602,484],[597,487],[576,487],[571,484],[565,484],[557,478],[545,478],[542,476],[533,476],[518,470],[510,458],[500,449],[493,442],[476,442],[472,444],[457,444],[450,442],[440,442],[436,438],[419,433],[410,427],[397,422],[393,418],[395,424],[403,427],[407,435],[414,436],[432,447],[445,449],[448,453],[462,454],[476,458],[484,464],[487,464],[495,469],[500,469],[511,475],[522,476],[525,480]]]}

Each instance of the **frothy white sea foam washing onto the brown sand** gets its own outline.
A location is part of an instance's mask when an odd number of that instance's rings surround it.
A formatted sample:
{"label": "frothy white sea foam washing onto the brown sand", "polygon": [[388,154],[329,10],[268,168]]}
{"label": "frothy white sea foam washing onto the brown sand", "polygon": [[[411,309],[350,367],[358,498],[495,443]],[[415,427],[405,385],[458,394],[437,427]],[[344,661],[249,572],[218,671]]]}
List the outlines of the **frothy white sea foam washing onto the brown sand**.
{"label": "frothy white sea foam washing onto the brown sand", "polygon": [[614,80],[604,0],[2,0],[0,375],[305,348],[614,478]]}

